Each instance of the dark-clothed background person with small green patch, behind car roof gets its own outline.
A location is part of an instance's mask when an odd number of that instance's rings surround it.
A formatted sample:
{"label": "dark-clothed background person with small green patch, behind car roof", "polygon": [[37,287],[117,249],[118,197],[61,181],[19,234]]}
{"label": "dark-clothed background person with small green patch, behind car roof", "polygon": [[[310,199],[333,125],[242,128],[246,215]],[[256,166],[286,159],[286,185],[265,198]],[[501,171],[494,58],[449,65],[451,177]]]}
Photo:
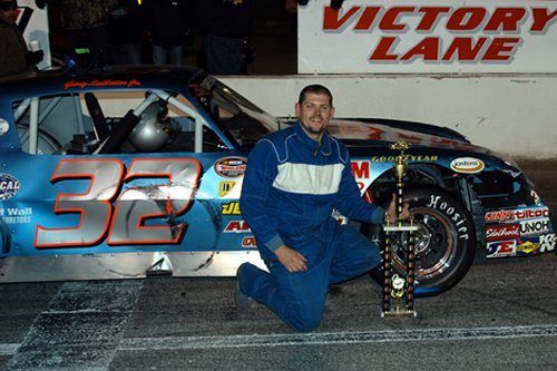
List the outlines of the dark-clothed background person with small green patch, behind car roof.
{"label": "dark-clothed background person with small green patch, behind car roof", "polygon": [[108,65],[108,21],[117,0],[61,0],[66,45],[80,67]]}

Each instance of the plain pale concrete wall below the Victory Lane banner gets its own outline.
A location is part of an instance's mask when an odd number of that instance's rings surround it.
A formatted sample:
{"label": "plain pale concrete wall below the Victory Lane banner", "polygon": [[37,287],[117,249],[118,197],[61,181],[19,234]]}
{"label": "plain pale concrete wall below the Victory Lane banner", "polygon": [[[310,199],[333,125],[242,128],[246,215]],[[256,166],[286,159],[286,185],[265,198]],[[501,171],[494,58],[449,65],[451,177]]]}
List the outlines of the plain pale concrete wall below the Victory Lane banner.
{"label": "plain pale concrete wall below the Victory Lane banner", "polygon": [[557,158],[557,75],[296,75],[221,77],[275,116],[294,114],[307,84],[334,96],[336,117],[422,121],[515,158]]}

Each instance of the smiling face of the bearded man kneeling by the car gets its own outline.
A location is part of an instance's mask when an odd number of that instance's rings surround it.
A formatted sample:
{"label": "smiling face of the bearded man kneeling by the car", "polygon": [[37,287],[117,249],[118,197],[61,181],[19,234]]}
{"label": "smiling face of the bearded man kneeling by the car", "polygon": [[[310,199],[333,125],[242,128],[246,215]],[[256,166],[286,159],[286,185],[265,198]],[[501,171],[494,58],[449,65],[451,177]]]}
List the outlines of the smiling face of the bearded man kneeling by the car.
{"label": "smiling face of the bearded man kneeling by the car", "polygon": [[321,136],[333,117],[334,108],[329,96],[324,94],[307,92],[302,104],[296,102],[296,116],[305,133],[314,140]]}

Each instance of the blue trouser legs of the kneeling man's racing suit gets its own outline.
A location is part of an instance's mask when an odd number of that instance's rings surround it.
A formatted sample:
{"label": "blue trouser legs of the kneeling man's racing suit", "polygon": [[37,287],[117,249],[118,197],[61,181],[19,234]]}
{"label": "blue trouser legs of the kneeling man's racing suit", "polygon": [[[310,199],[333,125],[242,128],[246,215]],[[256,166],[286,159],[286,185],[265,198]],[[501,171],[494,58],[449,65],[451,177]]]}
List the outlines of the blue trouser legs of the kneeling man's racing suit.
{"label": "blue trouser legs of the kneeling man's racing suit", "polygon": [[240,289],[295,330],[315,329],[321,323],[329,285],[364,274],[380,262],[379,247],[352,226],[341,226],[332,238],[317,244],[323,254],[317,260],[306,256],[306,272],[290,273],[277,261],[266,262],[270,273],[245,264],[238,276]]}

